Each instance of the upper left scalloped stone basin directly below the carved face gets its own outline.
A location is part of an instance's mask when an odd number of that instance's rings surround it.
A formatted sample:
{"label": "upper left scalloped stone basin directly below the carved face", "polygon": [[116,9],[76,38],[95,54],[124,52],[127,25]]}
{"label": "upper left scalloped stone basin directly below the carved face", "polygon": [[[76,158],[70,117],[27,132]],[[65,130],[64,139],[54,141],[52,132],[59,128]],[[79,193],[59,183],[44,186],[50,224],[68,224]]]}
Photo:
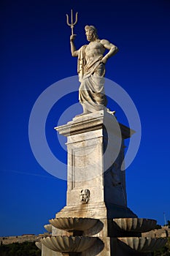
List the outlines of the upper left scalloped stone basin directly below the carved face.
{"label": "upper left scalloped stone basin directly below the carved face", "polygon": [[96,225],[98,219],[90,218],[55,218],[50,219],[49,222],[60,230],[74,231],[74,230],[88,230]]}

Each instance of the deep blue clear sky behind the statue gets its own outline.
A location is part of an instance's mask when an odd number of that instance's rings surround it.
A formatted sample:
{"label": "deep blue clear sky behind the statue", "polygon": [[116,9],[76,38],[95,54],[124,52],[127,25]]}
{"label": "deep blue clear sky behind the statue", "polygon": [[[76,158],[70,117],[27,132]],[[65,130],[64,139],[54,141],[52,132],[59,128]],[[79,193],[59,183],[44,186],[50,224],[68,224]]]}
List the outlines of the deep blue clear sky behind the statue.
{"label": "deep blue clear sky behind the statue", "polygon": [[[96,26],[101,39],[109,39],[120,49],[109,59],[106,77],[128,92],[139,111],[142,140],[126,173],[128,207],[161,225],[163,212],[170,219],[170,2],[9,0],[1,1],[0,15],[0,236],[44,233],[43,225],[66,205],[66,181],[50,176],[36,162],[28,121],[42,91],[77,74],[66,25],[66,13],[72,8],[79,12],[74,29],[77,47],[87,43],[84,26],[89,24]],[[72,100],[67,99],[70,105]],[[62,108],[66,109],[64,102]],[[123,121],[121,111],[115,109]],[[47,118],[47,140],[51,148],[56,143],[55,155],[64,159],[53,130],[57,121],[54,109]]]}

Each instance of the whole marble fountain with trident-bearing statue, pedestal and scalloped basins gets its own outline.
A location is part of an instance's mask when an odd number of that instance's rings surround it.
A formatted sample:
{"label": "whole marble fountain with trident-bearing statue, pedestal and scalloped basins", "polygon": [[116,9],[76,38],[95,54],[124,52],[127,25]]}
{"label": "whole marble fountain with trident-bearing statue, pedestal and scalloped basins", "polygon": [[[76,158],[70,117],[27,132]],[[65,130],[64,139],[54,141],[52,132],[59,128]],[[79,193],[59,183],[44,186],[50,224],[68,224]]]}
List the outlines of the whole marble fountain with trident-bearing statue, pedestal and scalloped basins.
{"label": "whole marble fountain with trident-bearing statue, pedestal and scalloped basins", "polygon": [[[45,225],[52,235],[40,240],[42,256],[149,256],[166,238],[142,237],[156,221],[139,219],[127,206],[123,160],[125,139],[134,130],[117,122],[114,111],[106,108],[104,95],[104,64],[117,53],[117,47],[107,40],[98,41],[94,26],[85,26],[90,44],[78,54],[73,34],[77,18],[71,24],[68,18],[67,23],[72,27],[72,56],[79,57],[83,113],[55,127],[67,138],[67,200],[50,219],[50,226]],[[104,48],[109,49],[106,56]]]}

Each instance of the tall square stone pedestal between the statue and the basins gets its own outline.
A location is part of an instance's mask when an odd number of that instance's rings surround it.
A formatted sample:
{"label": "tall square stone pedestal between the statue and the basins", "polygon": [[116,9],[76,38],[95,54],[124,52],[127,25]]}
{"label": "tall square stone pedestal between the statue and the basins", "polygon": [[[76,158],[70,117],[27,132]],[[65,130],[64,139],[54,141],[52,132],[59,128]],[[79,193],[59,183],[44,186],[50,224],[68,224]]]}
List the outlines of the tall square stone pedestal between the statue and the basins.
{"label": "tall square stone pedestal between the statue and the basins", "polygon": [[[134,131],[104,110],[76,116],[55,129],[67,137],[68,149],[67,203],[56,217],[136,217],[127,208],[121,170],[124,140]],[[83,189],[90,192],[88,202],[81,201]]]}

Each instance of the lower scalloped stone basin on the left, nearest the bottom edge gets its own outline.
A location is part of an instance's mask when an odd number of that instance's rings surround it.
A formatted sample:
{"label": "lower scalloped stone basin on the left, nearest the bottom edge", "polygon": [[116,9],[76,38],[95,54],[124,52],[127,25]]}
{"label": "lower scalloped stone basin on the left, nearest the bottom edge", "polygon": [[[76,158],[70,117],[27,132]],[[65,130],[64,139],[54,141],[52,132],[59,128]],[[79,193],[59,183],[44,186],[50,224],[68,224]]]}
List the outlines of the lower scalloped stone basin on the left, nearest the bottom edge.
{"label": "lower scalloped stone basin on the left, nearest the bottom edge", "polygon": [[41,242],[55,252],[84,252],[96,243],[98,238],[87,236],[51,236]]}

